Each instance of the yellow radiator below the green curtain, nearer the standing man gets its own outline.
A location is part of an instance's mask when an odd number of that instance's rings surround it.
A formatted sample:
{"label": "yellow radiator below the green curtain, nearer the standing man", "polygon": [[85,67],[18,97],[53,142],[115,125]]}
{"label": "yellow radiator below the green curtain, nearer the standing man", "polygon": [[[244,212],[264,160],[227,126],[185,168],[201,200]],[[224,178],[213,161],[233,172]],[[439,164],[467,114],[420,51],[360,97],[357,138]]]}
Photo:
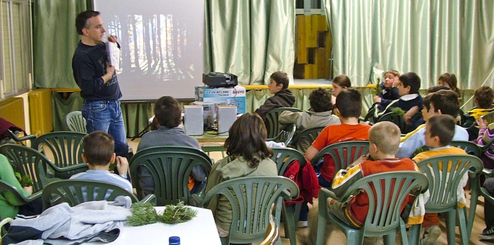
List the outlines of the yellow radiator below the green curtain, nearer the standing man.
{"label": "yellow radiator below the green curtain, nearer the standing man", "polygon": [[28,93],[31,134],[36,136],[53,131],[51,89],[38,88]]}

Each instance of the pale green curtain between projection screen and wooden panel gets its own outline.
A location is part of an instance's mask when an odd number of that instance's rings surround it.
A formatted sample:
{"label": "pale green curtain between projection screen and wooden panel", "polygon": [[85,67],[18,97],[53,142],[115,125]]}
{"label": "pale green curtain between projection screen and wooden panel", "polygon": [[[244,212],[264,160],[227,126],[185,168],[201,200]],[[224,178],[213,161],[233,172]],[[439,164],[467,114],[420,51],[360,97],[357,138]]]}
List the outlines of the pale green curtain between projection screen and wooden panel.
{"label": "pale green curtain between projection screen and wooden panel", "polygon": [[293,80],[295,0],[206,0],[205,71],[241,84],[267,84],[275,71]]}

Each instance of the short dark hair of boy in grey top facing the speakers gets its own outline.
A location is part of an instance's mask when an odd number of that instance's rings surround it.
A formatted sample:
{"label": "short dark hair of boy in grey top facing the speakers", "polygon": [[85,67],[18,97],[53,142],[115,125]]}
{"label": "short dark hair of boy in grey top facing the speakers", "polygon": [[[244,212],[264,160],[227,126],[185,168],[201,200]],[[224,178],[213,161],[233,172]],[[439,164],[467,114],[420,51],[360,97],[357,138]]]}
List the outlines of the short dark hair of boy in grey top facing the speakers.
{"label": "short dark hair of boy in grey top facing the speakers", "polygon": [[178,100],[171,96],[163,96],[154,105],[154,115],[162,126],[175,128],[182,121],[182,109]]}

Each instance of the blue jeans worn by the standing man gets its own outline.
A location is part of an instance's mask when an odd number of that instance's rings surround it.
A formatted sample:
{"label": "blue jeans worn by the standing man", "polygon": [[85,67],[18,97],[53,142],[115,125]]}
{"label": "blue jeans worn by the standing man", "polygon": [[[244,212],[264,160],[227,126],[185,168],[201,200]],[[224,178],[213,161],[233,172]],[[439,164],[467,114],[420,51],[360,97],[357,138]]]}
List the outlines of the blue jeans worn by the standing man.
{"label": "blue jeans worn by the standing man", "polygon": [[110,134],[115,140],[117,156],[128,157],[129,147],[125,135],[120,100],[98,100],[82,103],[82,116],[86,119],[87,133],[96,130]]}

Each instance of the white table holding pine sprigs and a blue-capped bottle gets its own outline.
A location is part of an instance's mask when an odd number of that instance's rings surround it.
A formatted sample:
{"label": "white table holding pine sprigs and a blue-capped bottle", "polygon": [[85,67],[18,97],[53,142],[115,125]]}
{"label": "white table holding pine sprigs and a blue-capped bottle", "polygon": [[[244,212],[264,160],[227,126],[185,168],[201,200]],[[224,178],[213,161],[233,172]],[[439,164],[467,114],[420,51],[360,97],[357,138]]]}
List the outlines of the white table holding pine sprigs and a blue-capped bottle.
{"label": "white table holding pine sprigs and a blue-capped bottle", "polygon": [[[168,245],[168,238],[177,236],[180,237],[181,245],[221,245],[211,210],[191,208],[197,210],[197,216],[185,223],[168,225],[158,222],[141,227],[125,225],[120,230],[118,239],[111,244]],[[164,209],[165,207],[156,207],[158,212]]]}

